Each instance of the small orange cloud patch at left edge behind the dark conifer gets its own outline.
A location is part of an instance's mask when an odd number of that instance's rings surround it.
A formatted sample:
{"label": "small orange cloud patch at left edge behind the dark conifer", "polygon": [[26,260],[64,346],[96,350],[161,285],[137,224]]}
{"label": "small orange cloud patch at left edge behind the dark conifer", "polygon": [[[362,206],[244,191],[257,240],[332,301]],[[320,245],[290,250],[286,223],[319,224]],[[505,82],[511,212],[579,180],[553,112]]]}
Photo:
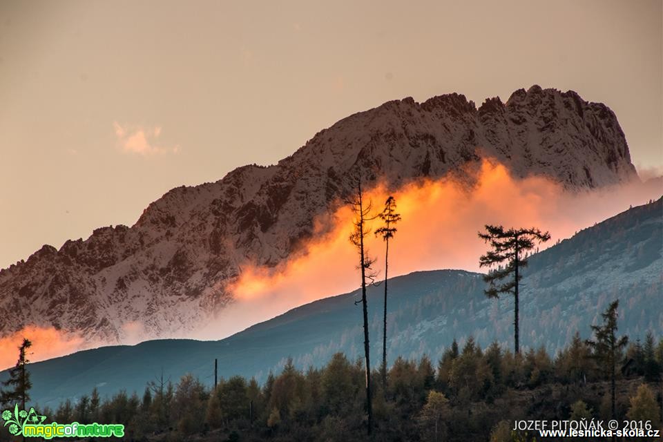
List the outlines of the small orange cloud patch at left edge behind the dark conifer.
{"label": "small orange cloud patch at left edge behind the dark conifer", "polygon": [[32,347],[28,351],[30,362],[44,361],[77,352],[84,348],[95,347],[76,334],[61,332],[54,327],[28,325],[18,332],[0,338],[0,370],[12,367],[19,358],[18,347],[28,338]]}

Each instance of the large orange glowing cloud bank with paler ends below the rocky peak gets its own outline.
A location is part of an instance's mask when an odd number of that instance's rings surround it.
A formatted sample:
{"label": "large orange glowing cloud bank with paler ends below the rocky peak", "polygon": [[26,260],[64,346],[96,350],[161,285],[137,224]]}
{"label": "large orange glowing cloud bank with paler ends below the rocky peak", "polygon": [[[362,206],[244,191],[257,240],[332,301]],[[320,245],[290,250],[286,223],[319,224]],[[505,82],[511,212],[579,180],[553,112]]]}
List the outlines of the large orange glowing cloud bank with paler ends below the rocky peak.
{"label": "large orange glowing cloud bank with paler ends below the rocky peak", "polygon": [[[367,191],[366,200],[372,201],[375,213],[391,194],[402,216],[390,241],[390,277],[427,269],[480,271],[479,256],[486,245],[477,232],[484,224],[550,231],[553,238],[544,244],[549,247],[630,204],[660,198],[660,189],[643,191],[638,183],[570,193],[546,177],[512,177],[493,160],[483,160],[479,169],[466,172],[474,178],[472,186],[466,180],[446,177],[414,182],[391,193],[383,185]],[[373,230],[377,222],[373,222]],[[314,224],[318,234],[279,267],[242,267],[231,287],[237,302],[222,312],[213,330],[202,330],[198,336],[227,335],[306,302],[356,289],[359,259],[348,241],[352,231],[349,207],[341,206]],[[374,268],[381,271],[383,241],[371,235],[367,248],[377,258]]]}

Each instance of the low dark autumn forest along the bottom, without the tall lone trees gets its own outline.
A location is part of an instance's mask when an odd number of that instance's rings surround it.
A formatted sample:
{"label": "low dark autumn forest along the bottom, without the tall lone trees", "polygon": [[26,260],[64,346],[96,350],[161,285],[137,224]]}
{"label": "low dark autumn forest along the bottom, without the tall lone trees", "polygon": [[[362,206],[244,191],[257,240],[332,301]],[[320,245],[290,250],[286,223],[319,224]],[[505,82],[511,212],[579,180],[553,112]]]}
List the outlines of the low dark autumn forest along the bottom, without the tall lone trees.
{"label": "low dark autumn forest along the bottom, without the tall lone trees", "polygon": [[[617,419],[660,427],[663,340],[647,334],[616,362]],[[377,370],[372,380],[378,441],[511,441],[515,419],[612,415],[609,370],[578,334],[555,357],[544,348],[515,354],[497,343],[482,349],[473,338],[454,340],[436,363],[398,358],[386,390]],[[160,377],[142,395],[99,398],[95,390],[39,411],[59,423],[123,423],[131,441],[363,441],[364,389],[363,361],[339,353],[321,369],[301,371],[289,361],[264,385],[242,376],[215,388],[191,375],[176,384]]]}

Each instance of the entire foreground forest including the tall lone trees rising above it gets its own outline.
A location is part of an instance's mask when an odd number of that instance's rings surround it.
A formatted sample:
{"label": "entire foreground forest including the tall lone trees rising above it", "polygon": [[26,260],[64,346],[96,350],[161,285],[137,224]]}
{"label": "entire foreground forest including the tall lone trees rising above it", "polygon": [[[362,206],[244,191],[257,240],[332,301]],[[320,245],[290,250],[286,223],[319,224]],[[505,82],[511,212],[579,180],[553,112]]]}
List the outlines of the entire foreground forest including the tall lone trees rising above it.
{"label": "entire foreground forest including the tall lone trees rising above it", "polygon": [[[651,421],[660,427],[663,340],[655,343],[651,332],[644,343],[629,344],[626,336],[617,336],[617,300],[601,315],[603,323],[591,326],[592,339],[582,340],[576,332],[555,356],[545,347],[522,351],[521,270],[528,251],[550,239],[548,232],[536,228],[486,225],[486,232],[479,232],[490,245],[479,258],[482,267],[489,267],[486,295],[514,296],[514,352],[498,343],[482,349],[470,337],[461,345],[454,340],[436,364],[427,356],[397,358],[387,369],[383,338],[383,363],[372,369],[367,286],[377,273],[365,249],[365,237],[371,233],[366,223],[376,218],[385,223],[376,233],[385,239],[386,278],[388,239],[400,215],[392,197],[385,202],[383,216],[372,215],[372,205],[364,197],[359,175],[348,202],[355,215],[349,239],[361,274],[357,303],[363,313],[363,360],[350,361],[337,353],[325,367],[303,372],[289,359],[282,372],[269,374],[263,385],[242,376],[221,379],[214,386],[190,374],[176,384],[161,376],[142,396],[122,391],[102,399],[93,390],[55,410],[39,411],[59,423],[122,423],[125,439],[132,441],[529,441],[532,434],[510,430],[514,421],[593,417]],[[386,336],[386,280],[384,289]],[[0,397],[28,400],[25,349],[21,347],[17,367],[4,384],[13,390],[2,391]]]}

